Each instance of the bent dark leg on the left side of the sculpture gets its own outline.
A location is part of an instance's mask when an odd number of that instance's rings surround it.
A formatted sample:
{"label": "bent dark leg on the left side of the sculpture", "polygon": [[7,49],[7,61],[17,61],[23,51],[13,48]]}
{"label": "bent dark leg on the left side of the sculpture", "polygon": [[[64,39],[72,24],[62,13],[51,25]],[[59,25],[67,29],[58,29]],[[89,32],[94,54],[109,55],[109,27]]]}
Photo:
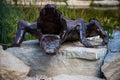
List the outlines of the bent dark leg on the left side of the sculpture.
{"label": "bent dark leg on the left side of the sculpture", "polygon": [[17,27],[17,33],[14,42],[12,43],[11,47],[19,47],[24,39],[25,33],[28,32],[36,37],[38,37],[38,31],[37,31],[37,24],[30,24],[26,21],[19,21],[18,27]]}

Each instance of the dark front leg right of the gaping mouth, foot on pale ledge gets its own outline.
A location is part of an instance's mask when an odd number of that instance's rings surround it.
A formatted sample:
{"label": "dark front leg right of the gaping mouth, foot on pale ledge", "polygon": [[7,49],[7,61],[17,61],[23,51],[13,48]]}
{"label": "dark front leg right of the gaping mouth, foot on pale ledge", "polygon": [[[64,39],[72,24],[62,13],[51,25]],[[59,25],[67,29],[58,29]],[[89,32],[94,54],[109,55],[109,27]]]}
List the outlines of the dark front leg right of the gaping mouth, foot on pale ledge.
{"label": "dark front leg right of the gaping mouth, foot on pale ledge", "polygon": [[89,41],[86,39],[86,24],[84,23],[83,20],[78,19],[75,21],[77,31],[79,32],[79,39],[80,42],[85,46],[85,47],[94,47]]}

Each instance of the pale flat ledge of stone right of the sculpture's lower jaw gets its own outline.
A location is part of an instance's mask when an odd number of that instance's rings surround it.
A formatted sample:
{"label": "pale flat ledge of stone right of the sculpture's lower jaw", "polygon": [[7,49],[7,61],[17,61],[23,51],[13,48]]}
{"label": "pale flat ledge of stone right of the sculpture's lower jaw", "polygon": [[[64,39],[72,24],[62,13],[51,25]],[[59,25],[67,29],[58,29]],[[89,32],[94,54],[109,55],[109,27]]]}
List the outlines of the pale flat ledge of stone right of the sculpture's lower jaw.
{"label": "pale flat ledge of stone right of the sculpture's lower jaw", "polygon": [[106,54],[105,46],[100,48],[86,48],[80,42],[63,44],[59,53],[63,53],[66,58],[79,58],[87,60],[97,60]]}

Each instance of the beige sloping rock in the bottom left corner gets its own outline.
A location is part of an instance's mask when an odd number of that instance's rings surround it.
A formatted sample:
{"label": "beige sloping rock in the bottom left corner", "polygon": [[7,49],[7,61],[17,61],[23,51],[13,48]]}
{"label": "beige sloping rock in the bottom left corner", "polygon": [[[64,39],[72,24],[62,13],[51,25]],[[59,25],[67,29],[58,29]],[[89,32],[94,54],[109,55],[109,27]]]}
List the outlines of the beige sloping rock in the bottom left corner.
{"label": "beige sloping rock in the bottom left corner", "polygon": [[13,54],[0,51],[0,80],[19,80],[28,74],[30,68]]}

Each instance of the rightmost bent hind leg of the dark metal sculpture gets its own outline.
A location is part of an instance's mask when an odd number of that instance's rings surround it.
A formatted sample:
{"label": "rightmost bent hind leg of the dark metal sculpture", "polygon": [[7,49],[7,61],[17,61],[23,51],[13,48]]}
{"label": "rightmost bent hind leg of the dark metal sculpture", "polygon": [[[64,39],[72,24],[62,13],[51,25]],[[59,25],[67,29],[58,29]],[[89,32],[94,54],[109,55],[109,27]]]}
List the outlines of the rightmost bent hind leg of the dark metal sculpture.
{"label": "rightmost bent hind leg of the dark metal sculpture", "polygon": [[108,43],[109,38],[103,28],[100,26],[99,22],[95,19],[91,19],[90,22],[87,24],[87,36],[90,36],[92,32],[96,32],[102,39],[102,45]]}

